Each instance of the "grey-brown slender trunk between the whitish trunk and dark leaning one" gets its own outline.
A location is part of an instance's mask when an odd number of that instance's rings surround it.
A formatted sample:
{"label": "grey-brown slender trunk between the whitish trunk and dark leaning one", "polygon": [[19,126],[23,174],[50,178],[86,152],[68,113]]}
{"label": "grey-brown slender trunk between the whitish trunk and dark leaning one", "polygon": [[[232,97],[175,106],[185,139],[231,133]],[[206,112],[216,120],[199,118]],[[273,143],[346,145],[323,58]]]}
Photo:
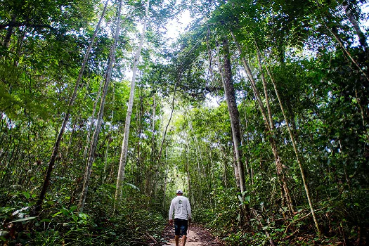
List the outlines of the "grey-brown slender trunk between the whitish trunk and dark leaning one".
{"label": "grey-brown slender trunk between the whitish trunk and dark leaning one", "polygon": [[79,199],[79,204],[78,204],[80,212],[82,212],[84,209],[84,203],[86,201],[87,191],[89,190],[89,181],[90,181],[90,176],[91,176],[92,163],[94,160],[96,146],[98,144],[98,135],[100,134],[100,131],[101,131],[101,124],[103,124],[105,98],[106,98],[106,95],[108,94],[109,84],[110,84],[110,80],[112,77],[112,67],[115,63],[115,50],[117,48],[117,42],[118,42],[118,37],[119,37],[119,32],[120,32],[121,10],[122,10],[122,0],[119,0],[119,6],[118,6],[118,11],[117,11],[117,25],[115,29],[114,42],[110,48],[108,71],[106,72],[105,83],[103,86],[103,94],[101,95],[100,109],[98,111],[98,119],[96,122],[95,131],[93,132],[93,138],[92,138],[91,147],[89,150],[89,158],[87,160],[86,169],[84,172],[84,184],[83,184],[82,193],[81,193],[81,197]]}

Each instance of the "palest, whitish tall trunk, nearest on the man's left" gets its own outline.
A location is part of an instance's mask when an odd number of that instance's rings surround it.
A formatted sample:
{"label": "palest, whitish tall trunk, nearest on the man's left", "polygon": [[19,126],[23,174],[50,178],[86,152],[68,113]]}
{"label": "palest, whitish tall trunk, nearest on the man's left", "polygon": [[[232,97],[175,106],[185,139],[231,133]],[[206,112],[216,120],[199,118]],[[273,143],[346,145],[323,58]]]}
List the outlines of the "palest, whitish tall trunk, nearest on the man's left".
{"label": "palest, whitish tall trunk, nearest on the man's left", "polygon": [[115,190],[115,207],[117,203],[120,203],[122,200],[122,184],[124,180],[124,171],[126,168],[127,163],[127,151],[128,151],[128,138],[129,138],[129,127],[131,125],[131,114],[132,108],[134,105],[134,87],[136,83],[136,70],[137,70],[137,63],[138,59],[141,56],[141,49],[143,46],[143,41],[145,39],[145,32],[146,32],[146,22],[148,21],[148,7],[150,4],[150,0],[146,2],[146,11],[145,11],[145,21],[143,22],[142,34],[141,34],[141,41],[138,45],[138,49],[136,51],[136,55],[134,57],[134,65],[132,71],[132,82],[131,82],[131,91],[129,93],[129,103],[127,108],[127,116],[126,122],[124,124],[124,136],[122,142],[122,152],[120,154],[119,160],[119,169],[118,169],[118,176],[117,176],[117,188]]}

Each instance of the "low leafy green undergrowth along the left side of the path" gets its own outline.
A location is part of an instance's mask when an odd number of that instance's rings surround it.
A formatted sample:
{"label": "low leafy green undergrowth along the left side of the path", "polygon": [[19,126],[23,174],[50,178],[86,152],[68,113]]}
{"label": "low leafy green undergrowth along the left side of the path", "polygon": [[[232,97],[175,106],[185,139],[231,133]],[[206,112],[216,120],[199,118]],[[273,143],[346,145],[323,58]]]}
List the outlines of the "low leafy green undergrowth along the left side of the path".
{"label": "low leafy green undergrowth along the left side of the path", "polygon": [[[48,205],[47,209],[39,216],[32,216],[32,196],[8,193],[2,198],[2,245],[150,244],[152,239],[148,235],[160,240],[166,222],[162,214],[149,209],[153,206],[139,195],[123,202],[117,212],[113,212],[111,199],[101,193],[91,197],[84,212],[78,212],[76,205],[49,200],[44,205]],[[11,198],[11,202],[4,204],[8,198]]]}

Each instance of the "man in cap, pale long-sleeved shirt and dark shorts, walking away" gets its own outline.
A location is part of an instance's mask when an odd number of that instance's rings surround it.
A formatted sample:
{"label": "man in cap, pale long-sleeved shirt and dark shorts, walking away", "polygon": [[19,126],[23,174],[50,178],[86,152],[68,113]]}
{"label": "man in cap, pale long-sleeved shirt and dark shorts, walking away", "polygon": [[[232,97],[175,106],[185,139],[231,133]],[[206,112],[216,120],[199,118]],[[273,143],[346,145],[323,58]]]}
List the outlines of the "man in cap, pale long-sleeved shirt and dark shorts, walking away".
{"label": "man in cap, pale long-sleeved shirt and dark shorts, walking away", "polygon": [[169,209],[169,223],[173,223],[174,212],[174,238],[176,246],[179,246],[179,235],[182,237],[182,246],[186,244],[188,221],[191,221],[190,201],[183,196],[182,190],[177,190],[177,196],[171,200]]}

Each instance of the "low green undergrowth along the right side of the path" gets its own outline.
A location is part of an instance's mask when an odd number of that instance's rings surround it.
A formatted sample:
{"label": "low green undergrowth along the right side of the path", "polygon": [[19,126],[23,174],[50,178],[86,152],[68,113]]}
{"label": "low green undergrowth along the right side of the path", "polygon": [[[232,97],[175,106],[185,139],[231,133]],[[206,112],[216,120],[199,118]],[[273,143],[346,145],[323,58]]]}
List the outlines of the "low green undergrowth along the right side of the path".
{"label": "low green undergrowth along the right side of the path", "polygon": [[[349,221],[348,208],[334,201],[323,202],[316,215],[321,225],[319,236],[311,223],[309,207],[297,207],[290,213],[287,209],[267,210],[263,203],[252,204],[245,196],[242,205],[233,190],[223,190],[216,195],[215,206],[194,209],[196,222],[203,224],[226,245],[366,245],[368,225]],[[247,219],[241,207],[259,207],[251,209]],[[258,216],[256,215],[258,214]],[[236,219],[235,219],[236,218]]]}

